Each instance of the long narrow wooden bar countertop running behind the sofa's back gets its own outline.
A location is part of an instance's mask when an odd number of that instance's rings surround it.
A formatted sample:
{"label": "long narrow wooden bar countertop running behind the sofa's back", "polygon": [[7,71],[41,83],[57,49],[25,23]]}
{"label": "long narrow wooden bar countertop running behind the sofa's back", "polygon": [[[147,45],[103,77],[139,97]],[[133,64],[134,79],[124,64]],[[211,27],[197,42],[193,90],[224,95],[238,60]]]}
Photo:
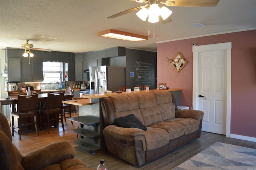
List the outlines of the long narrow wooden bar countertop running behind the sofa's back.
{"label": "long narrow wooden bar countertop running behind the sofa's back", "polygon": [[[168,89],[166,91],[168,92],[172,92],[172,91],[178,91],[181,90],[181,88],[171,88]],[[123,94],[138,94],[138,93],[145,93],[145,92],[154,92],[156,90],[149,90],[149,91],[145,91],[145,90],[140,90],[140,92],[130,92],[130,93],[126,93],[126,92],[122,92],[122,93],[116,93],[116,92],[112,92],[111,94],[83,94],[81,95],[82,98],[87,98],[87,99],[92,99],[92,98],[104,98],[104,97],[110,97],[110,96],[114,96],[114,95],[123,95]]]}

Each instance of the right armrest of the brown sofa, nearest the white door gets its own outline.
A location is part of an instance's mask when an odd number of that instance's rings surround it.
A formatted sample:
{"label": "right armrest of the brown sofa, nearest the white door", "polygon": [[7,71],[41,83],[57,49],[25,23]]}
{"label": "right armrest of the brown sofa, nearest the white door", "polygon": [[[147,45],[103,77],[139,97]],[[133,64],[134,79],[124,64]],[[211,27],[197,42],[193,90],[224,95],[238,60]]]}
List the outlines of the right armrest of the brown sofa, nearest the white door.
{"label": "right armrest of the brown sofa, nearest the white door", "polygon": [[201,120],[204,117],[204,112],[200,110],[176,110],[175,111],[176,118],[193,118],[196,120]]}

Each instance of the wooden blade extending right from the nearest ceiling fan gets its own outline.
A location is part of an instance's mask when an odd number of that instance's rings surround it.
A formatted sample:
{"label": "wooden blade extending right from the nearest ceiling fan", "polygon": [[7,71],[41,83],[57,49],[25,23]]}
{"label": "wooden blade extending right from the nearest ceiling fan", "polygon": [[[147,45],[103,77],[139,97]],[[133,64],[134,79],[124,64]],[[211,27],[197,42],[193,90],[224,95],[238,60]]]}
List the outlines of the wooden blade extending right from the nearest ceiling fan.
{"label": "wooden blade extending right from the nearest ceiling fan", "polygon": [[216,6],[220,0],[166,0],[160,2],[166,6],[183,6],[183,7],[210,7]]}

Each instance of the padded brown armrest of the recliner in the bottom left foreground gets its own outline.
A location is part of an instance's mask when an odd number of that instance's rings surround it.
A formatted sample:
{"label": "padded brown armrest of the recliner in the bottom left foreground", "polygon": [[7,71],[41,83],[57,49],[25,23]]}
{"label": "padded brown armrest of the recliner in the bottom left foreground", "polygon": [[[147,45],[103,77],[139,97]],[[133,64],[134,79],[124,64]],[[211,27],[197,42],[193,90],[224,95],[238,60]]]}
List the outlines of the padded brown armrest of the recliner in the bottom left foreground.
{"label": "padded brown armrest of the recliner in the bottom left foreground", "polygon": [[40,170],[68,158],[74,158],[74,150],[71,144],[64,140],[48,144],[26,154],[22,166],[26,170]]}

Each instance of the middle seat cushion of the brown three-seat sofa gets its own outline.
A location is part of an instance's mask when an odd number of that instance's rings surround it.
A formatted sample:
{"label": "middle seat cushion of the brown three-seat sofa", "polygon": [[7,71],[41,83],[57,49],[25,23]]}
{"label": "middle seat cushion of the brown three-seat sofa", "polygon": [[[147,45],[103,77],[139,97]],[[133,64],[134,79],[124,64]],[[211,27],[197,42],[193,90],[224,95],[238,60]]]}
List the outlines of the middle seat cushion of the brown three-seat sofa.
{"label": "middle seat cushion of the brown three-seat sofa", "polygon": [[150,125],[150,127],[166,130],[170,136],[169,140],[178,138],[185,133],[184,126],[177,122],[158,122]]}

